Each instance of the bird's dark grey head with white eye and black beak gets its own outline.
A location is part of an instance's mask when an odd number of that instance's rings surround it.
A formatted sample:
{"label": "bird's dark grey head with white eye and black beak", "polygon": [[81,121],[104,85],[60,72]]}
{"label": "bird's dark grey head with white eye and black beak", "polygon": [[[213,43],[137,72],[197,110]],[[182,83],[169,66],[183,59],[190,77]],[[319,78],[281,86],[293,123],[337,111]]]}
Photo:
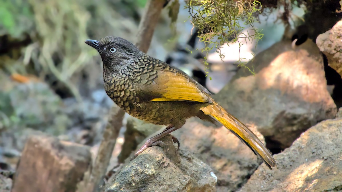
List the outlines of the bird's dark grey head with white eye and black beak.
{"label": "bird's dark grey head with white eye and black beak", "polygon": [[98,41],[90,39],[85,42],[98,51],[106,66],[126,65],[143,54],[131,42],[120,37],[104,37]]}

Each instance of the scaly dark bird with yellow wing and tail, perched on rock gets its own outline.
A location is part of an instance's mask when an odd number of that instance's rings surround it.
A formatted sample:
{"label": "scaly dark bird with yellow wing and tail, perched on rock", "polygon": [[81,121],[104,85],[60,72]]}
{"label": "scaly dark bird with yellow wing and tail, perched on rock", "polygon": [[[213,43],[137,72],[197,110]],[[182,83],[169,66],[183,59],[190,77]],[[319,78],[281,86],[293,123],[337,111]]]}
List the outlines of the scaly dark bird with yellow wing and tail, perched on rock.
{"label": "scaly dark bird with yellow wing and tail, perched on rock", "polygon": [[111,100],[137,119],[167,126],[163,132],[149,138],[133,159],[156,145],[162,137],[181,128],[186,119],[197,116],[214,124],[221,123],[269,169],[276,167],[275,159],[260,139],[182,70],[148,56],[120,37],[108,36],[85,42],[102,58],[104,89]]}

